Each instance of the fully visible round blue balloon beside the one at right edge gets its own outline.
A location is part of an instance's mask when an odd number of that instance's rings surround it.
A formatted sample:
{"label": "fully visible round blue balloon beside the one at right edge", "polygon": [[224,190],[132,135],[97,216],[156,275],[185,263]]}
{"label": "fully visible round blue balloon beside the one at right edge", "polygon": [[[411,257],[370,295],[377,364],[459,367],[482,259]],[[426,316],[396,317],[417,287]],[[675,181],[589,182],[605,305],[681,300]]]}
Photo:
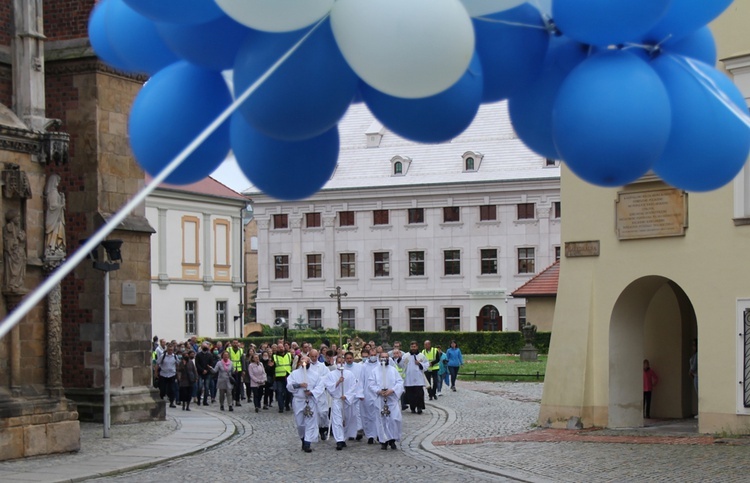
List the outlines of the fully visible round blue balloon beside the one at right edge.
{"label": "fully visible round blue balloon beside the one at right edge", "polygon": [[552,115],[563,161],[581,179],[621,186],[645,174],[669,138],[669,96],[635,54],[600,52],[568,74]]}

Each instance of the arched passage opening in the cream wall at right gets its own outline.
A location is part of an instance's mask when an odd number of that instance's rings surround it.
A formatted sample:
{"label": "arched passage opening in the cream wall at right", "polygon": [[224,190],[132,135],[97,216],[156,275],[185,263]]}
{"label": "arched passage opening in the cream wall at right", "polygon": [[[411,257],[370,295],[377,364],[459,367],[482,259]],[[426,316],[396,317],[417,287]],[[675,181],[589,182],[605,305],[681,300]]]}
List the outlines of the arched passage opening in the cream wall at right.
{"label": "arched passage opening in the cream wall at right", "polygon": [[651,416],[697,414],[688,375],[690,341],[697,337],[695,311],[687,294],[661,276],[635,280],[620,294],[609,324],[607,426],[643,426],[643,359],[659,374]]}

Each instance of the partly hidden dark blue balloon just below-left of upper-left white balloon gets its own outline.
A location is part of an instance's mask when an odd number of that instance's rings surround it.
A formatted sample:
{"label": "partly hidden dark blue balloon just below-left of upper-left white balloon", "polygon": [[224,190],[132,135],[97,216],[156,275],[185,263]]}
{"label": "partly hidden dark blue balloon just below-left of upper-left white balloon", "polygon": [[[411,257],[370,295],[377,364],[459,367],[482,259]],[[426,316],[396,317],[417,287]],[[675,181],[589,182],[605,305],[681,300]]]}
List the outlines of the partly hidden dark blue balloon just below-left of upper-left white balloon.
{"label": "partly hidden dark blue balloon just below-left of upper-left white balloon", "polygon": [[240,45],[253,32],[226,15],[198,25],[157,22],[156,29],[172,52],[214,70],[231,69]]}

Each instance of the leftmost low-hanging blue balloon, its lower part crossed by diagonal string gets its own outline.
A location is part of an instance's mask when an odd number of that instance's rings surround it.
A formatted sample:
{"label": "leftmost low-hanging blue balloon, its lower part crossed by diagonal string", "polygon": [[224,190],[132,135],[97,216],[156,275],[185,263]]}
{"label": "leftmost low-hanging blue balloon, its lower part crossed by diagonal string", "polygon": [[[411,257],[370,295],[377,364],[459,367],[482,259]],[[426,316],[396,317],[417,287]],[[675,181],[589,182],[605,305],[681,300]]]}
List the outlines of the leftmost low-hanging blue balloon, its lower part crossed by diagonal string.
{"label": "leftmost low-hanging blue balloon, its lower part crossed by diagonal string", "polygon": [[[220,72],[177,62],[143,86],[130,110],[130,145],[151,176],[177,157],[232,102]],[[222,123],[166,182],[189,184],[211,174],[229,153],[229,122]]]}

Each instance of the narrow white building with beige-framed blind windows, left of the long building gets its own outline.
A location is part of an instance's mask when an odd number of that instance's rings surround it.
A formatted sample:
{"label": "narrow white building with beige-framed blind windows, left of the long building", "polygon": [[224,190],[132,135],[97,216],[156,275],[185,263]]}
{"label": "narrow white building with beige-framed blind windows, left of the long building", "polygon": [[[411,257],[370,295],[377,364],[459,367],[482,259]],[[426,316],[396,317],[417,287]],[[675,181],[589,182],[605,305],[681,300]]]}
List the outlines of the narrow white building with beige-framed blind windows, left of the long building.
{"label": "narrow white building with beige-framed blind windows, left of the long building", "polygon": [[212,178],[162,185],[146,199],[152,335],[241,335],[242,213],[247,199]]}

